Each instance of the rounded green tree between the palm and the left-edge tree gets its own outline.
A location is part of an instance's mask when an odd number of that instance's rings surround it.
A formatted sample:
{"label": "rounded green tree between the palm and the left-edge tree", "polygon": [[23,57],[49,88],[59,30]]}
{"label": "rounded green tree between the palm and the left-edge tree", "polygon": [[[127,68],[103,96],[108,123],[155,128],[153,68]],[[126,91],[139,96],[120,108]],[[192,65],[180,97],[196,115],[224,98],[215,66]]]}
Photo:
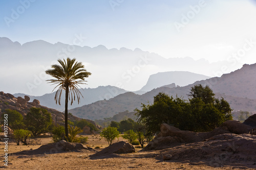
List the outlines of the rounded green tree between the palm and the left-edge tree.
{"label": "rounded green tree between the palm and the left-edge tree", "polygon": [[48,130],[52,124],[52,116],[46,109],[32,107],[25,116],[25,123],[33,136],[37,136]]}

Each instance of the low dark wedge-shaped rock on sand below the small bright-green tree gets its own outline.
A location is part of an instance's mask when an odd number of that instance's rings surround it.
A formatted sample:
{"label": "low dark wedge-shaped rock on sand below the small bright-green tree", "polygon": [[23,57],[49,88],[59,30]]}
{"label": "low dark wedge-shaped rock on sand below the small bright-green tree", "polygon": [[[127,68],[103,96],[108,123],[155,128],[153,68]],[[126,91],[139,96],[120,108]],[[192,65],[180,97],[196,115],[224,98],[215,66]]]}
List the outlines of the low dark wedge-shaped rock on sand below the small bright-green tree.
{"label": "low dark wedge-shaped rock on sand below the small bright-green tree", "polygon": [[109,147],[106,147],[102,151],[97,152],[96,154],[91,155],[90,157],[97,157],[97,156],[107,156],[111,154],[127,154],[127,153],[134,153],[135,149],[132,144],[120,141],[114,144],[111,144]]}

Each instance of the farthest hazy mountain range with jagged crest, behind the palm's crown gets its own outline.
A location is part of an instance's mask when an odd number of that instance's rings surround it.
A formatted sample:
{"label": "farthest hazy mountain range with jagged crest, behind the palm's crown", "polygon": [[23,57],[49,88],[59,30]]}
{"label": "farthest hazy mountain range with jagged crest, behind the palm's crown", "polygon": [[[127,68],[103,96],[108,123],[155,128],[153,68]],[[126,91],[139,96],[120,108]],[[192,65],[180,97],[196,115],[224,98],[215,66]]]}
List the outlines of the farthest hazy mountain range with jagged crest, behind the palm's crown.
{"label": "farthest hazy mountain range with jagged crest, behind the palm's crown", "polygon": [[[127,91],[141,89],[150,75],[158,72],[190,71],[216,77],[242,66],[230,61],[209,63],[204,59],[194,60],[189,57],[170,56],[166,59],[139,48],[130,50],[122,47],[118,50],[108,49],[103,45],[89,47],[61,42],[51,44],[43,40],[20,44],[8,38],[0,38],[0,71],[3,73],[0,75],[1,88],[9,93],[50,93],[53,86],[46,83],[45,80],[51,77],[45,74],[45,70],[56,63],[57,59],[67,57],[81,61],[92,73],[87,79],[88,85],[82,88],[112,85]],[[228,68],[225,69],[226,72],[222,71],[223,65]]]}

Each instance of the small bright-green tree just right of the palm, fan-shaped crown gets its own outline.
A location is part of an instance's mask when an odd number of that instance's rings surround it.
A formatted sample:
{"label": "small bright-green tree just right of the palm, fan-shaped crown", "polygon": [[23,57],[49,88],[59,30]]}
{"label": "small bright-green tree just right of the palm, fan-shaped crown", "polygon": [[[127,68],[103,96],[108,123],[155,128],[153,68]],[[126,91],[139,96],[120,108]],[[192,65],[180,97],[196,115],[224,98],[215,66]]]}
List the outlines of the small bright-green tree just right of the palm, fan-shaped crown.
{"label": "small bright-green tree just right of the palm, fan-shaped crown", "polygon": [[115,138],[118,138],[119,135],[120,132],[117,130],[117,128],[110,126],[108,128],[104,128],[100,133],[100,136],[105,138],[105,140],[108,141],[109,145],[111,145]]}

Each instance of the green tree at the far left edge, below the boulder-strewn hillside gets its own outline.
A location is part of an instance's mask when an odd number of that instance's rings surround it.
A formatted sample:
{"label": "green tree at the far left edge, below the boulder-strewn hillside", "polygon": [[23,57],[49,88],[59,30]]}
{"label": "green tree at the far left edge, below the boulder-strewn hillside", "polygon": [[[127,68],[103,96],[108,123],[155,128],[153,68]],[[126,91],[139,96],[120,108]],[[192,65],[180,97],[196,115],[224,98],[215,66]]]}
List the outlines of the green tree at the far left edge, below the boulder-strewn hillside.
{"label": "green tree at the far left edge, below the boulder-strewn hillside", "polygon": [[[6,109],[4,114],[8,114],[8,126],[9,128],[15,129],[23,129],[23,116],[16,110]],[[2,114],[2,119],[4,120],[4,114]],[[2,122],[3,124],[3,122]]]}

